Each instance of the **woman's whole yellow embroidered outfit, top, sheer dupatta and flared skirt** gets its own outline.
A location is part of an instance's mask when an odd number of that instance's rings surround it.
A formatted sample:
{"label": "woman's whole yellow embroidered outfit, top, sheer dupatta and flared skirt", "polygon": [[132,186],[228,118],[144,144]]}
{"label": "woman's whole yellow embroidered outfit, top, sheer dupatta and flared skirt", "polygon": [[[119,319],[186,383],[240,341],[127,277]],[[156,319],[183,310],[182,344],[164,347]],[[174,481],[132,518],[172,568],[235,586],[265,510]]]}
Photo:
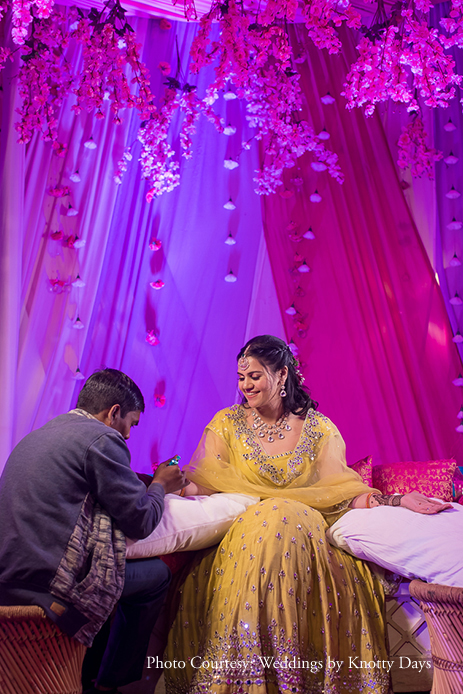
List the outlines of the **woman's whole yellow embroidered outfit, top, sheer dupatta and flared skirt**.
{"label": "woman's whole yellow embroidered outfit, top, sheer dupatta and flared skirt", "polygon": [[334,424],[309,410],[294,451],[268,456],[241,405],[206,427],[187,476],[259,496],[176,587],[168,693],[386,694],[383,592],[331,547],[329,524],[368,490]]}

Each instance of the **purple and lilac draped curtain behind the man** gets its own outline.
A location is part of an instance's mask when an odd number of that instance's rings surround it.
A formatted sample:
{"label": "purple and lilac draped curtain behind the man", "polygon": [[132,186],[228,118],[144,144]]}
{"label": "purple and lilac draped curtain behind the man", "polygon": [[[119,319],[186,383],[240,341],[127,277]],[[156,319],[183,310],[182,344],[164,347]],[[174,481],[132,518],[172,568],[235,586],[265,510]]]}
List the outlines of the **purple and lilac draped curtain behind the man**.
{"label": "purple and lilac draped curtain behind the man", "polygon": [[[162,31],[158,20],[135,20],[135,28],[160,103],[164,78],[157,66],[167,60],[175,74],[178,44],[187,74],[196,25],[173,24]],[[10,77],[15,74],[10,70]],[[201,75],[200,95],[211,79],[211,70]],[[108,114],[103,121],[92,114],[75,116],[68,99],[59,127],[59,140],[68,149],[60,158],[38,137],[26,148],[15,144],[15,80],[8,84],[1,303],[8,330],[2,331],[0,346],[11,419],[3,418],[2,464],[22,436],[75,405],[82,385],[73,380],[78,366],[85,376],[102,366],[119,368],[141,387],[146,413],[130,442],[136,469],[149,470],[151,462],[176,453],[187,459],[214,412],[234,401],[235,355],[246,330],[253,329],[249,310],[256,301],[262,237],[260,199],[252,185],[257,148],[240,156],[238,169],[223,165],[251,136],[243,107],[238,101],[217,102],[217,112],[236,126],[236,134],[219,135],[201,119],[195,155],[181,162],[181,186],[148,205],[133,112],[124,113],[117,127]],[[177,124],[176,149],[178,131]],[[84,146],[90,137],[96,149]],[[133,160],[117,186],[113,174],[125,146],[132,146]],[[76,170],[79,183],[70,179]],[[70,196],[47,194],[62,185],[70,187]],[[230,197],[236,204],[232,211],[223,208]],[[76,216],[66,215],[69,204]],[[79,236],[85,246],[69,248],[53,240],[50,234],[57,230],[64,239]],[[230,233],[234,246],[225,244]],[[161,250],[149,249],[153,238],[162,241]],[[224,281],[230,270],[235,283]],[[85,287],[50,291],[50,279],[68,285],[77,274]],[[158,279],[165,286],[156,291],[150,283]],[[73,327],[77,317],[80,330]],[[156,346],[146,342],[150,330],[159,338]],[[155,406],[155,395],[166,398],[163,407]]]}

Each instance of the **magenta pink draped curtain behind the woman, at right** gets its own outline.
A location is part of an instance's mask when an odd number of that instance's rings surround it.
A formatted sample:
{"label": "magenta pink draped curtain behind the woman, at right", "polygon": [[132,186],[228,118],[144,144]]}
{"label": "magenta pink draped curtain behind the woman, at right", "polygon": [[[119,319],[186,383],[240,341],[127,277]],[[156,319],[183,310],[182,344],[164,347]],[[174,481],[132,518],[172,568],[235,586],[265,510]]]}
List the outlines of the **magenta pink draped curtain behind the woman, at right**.
{"label": "magenta pink draped curtain behind the woman, at right", "polygon": [[[379,117],[347,112],[340,96],[352,38],[344,35],[335,57],[302,33],[293,39],[309,56],[301,66],[309,118],[316,132],[326,127],[331,134],[328,144],[340,154],[346,180],[339,186],[305,159],[300,192],[296,186],[291,198],[264,200],[280,308],[294,302],[299,312],[285,315],[288,339],[299,347],[321,411],[344,434],[351,462],[368,454],[375,463],[458,456],[460,399],[452,379],[461,366],[442,295]],[[332,105],[320,101],[328,91],[336,97]],[[289,189],[293,177],[286,177]],[[318,204],[309,201],[315,188],[323,198]],[[302,232],[311,225],[316,238],[292,242],[291,222]],[[310,273],[294,271],[302,257]],[[305,337],[295,320],[307,326]]]}

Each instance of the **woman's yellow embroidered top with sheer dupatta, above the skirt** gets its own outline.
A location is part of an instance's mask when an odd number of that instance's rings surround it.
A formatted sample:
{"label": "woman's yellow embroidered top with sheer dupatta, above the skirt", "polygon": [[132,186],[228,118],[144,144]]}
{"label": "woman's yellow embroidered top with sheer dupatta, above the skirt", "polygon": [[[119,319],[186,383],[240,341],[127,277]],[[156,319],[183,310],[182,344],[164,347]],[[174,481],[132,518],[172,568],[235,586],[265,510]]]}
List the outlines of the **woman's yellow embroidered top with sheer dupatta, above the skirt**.
{"label": "woman's yellow embroidered top with sheer dupatta, above the skirt", "polygon": [[218,492],[291,499],[327,515],[371,491],[347,467],[345,449],[333,422],[311,409],[294,451],[269,456],[249,428],[243,406],[233,405],[207,425],[185,473]]}

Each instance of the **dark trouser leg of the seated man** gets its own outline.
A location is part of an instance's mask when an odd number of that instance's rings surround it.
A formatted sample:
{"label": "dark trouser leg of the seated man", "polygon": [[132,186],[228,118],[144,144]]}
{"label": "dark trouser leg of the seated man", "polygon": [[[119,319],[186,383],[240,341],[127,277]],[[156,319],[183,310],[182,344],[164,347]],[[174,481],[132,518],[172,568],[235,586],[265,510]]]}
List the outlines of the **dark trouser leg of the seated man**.
{"label": "dark trouser leg of the seated man", "polygon": [[115,615],[104,624],[85,655],[84,691],[93,681],[103,687],[122,687],[141,679],[151,631],[170,578],[169,567],[158,558],[127,561]]}

